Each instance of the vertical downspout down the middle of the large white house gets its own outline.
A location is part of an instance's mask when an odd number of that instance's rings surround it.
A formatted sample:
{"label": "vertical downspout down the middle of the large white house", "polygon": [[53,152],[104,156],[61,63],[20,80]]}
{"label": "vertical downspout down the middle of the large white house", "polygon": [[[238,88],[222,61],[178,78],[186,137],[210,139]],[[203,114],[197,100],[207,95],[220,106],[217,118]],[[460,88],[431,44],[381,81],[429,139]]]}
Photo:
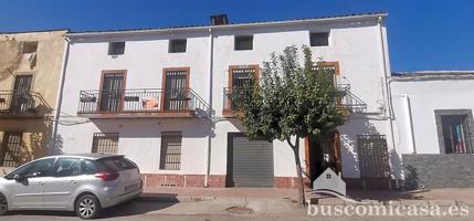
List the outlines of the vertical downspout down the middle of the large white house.
{"label": "vertical downspout down the middle of the large white house", "polygon": [[212,147],[212,135],[213,135],[213,120],[212,120],[212,87],[213,87],[213,66],[214,66],[214,36],[212,34],[212,28],[209,28],[209,134],[208,145],[206,149],[206,177],[204,187],[209,187],[209,175],[211,172],[211,147]]}

